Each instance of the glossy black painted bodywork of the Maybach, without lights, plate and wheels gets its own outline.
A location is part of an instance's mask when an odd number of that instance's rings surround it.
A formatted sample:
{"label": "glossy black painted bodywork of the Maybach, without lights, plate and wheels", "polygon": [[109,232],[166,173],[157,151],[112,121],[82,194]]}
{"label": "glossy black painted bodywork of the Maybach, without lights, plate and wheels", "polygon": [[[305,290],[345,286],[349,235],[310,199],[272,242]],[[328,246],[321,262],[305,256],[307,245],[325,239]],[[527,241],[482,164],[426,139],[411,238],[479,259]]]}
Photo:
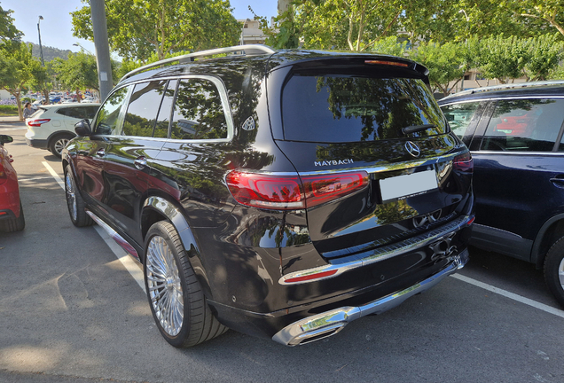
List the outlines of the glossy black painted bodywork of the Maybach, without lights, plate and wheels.
{"label": "glossy black painted bodywork of the Maybach, without lights, plate and wheels", "polygon": [[[141,260],[151,223],[167,219],[175,224],[218,319],[241,332],[271,337],[311,313],[361,304],[409,287],[442,270],[449,261],[432,260],[433,251],[423,246],[322,281],[282,285],[280,277],[330,263],[353,262],[379,246],[425,233],[460,215],[472,215],[471,175],[452,165],[467,149],[449,132],[416,132],[354,143],[325,143],[321,137],[317,142],[284,139],[280,94],[294,66],[300,70],[333,68],[349,75],[361,71],[367,58],[390,59],[290,51],[271,57],[201,60],[137,74],[118,89],[149,81],[175,81],[176,86],[188,78],[214,79],[219,84],[217,94],[227,98],[223,107],[228,111],[228,138],[126,137],[104,135],[98,129],[67,147],[63,165],[72,164],[89,208],[130,240]],[[394,59],[409,68],[370,66],[362,68],[363,75],[380,70],[380,76],[402,75],[427,82],[424,67]],[[425,86],[419,91],[430,99]],[[126,113],[131,94],[129,91],[122,99],[120,115]],[[169,93],[163,99],[172,97]],[[177,94],[174,97],[177,100]],[[212,104],[203,100],[201,105]],[[165,102],[161,109],[154,107],[158,117],[155,112],[153,120],[140,121],[145,125],[137,131],[156,131],[151,124],[166,121],[167,107]],[[169,115],[174,119],[175,113]],[[243,129],[249,119],[254,129]],[[113,129],[120,131],[119,126]],[[418,158],[406,151],[407,141],[419,145]],[[139,159],[145,160],[140,168],[135,162]],[[326,165],[319,167],[316,162]],[[225,183],[232,170],[299,176],[362,170],[369,175],[369,185],[317,207],[268,210],[243,206],[233,199]],[[381,179],[422,171],[436,173],[437,190],[382,203]],[[436,223],[414,226],[413,218],[437,211],[440,219]],[[458,251],[466,248],[468,231],[459,231],[453,239]]]}

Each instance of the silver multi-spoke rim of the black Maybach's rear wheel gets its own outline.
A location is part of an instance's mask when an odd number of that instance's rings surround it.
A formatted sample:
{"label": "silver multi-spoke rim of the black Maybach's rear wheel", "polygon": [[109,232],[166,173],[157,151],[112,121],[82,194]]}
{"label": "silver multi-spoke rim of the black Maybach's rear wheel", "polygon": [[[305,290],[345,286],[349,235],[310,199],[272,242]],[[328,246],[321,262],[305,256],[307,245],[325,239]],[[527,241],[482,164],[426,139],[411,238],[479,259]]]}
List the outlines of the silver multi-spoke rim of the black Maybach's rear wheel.
{"label": "silver multi-spoke rim of the black Maybach's rear wheel", "polygon": [[184,321],[182,284],[176,261],[164,238],[154,236],[147,248],[147,287],[162,329],[176,336]]}

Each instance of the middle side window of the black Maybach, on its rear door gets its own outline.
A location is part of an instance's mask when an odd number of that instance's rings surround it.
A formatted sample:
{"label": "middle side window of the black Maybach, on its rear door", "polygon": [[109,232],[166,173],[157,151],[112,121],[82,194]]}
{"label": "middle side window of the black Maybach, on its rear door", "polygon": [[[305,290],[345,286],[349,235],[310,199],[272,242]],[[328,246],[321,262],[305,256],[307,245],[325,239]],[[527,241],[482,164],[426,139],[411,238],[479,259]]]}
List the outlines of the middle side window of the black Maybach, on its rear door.
{"label": "middle side window of the black Maybach, on its rear door", "polygon": [[135,86],[123,121],[125,136],[153,137],[154,123],[166,84],[166,81],[154,81]]}

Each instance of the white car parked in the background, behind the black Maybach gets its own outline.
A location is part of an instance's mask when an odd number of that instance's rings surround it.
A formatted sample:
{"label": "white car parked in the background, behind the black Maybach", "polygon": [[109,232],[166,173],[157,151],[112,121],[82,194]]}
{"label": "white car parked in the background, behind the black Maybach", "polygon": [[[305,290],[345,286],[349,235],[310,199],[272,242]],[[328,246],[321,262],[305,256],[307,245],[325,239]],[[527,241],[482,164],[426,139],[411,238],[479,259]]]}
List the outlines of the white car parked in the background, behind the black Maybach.
{"label": "white car parked in the background, behind the black Maybach", "polygon": [[27,145],[47,149],[57,157],[68,141],[76,137],[74,124],[81,120],[92,120],[99,104],[58,104],[39,106],[37,112],[26,120]]}

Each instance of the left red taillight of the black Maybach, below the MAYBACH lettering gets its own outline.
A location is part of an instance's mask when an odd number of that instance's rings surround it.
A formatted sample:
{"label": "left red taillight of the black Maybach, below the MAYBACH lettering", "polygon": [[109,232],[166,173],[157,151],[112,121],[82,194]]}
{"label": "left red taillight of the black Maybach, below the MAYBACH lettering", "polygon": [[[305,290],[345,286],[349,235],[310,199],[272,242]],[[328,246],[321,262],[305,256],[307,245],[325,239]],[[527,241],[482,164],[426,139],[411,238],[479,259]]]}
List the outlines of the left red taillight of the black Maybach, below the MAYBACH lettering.
{"label": "left red taillight of the black Maybach, below the MAYBACH lettering", "polygon": [[315,207],[368,184],[364,171],[324,176],[272,176],[232,171],[225,180],[240,204],[276,210]]}

